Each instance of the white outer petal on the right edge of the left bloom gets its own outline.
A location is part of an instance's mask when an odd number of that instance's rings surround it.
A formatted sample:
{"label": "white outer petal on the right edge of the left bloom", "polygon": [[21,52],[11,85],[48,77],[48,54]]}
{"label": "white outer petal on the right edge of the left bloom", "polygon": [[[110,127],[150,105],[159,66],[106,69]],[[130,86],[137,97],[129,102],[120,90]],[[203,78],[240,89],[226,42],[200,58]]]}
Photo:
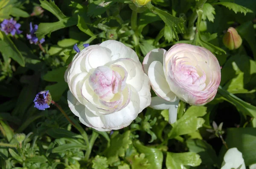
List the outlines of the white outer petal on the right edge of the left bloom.
{"label": "white outer petal on the right edge of the left bloom", "polygon": [[142,112],[142,110],[148,107],[151,103],[150,82],[145,73],[143,87],[138,94],[140,96],[140,112]]}

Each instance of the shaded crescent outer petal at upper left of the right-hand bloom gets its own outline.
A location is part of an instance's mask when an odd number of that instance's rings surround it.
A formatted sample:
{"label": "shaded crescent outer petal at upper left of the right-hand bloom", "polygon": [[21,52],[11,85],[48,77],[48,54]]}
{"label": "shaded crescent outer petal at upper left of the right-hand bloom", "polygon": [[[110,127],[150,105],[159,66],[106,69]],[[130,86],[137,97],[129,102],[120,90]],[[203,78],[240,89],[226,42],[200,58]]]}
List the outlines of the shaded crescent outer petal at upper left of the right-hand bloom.
{"label": "shaded crescent outer petal at upper left of the right-hand bloom", "polygon": [[153,49],[148,52],[148,54],[143,59],[143,70],[146,74],[148,74],[149,65],[151,65],[154,61],[159,61],[163,65],[163,56],[166,53],[165,49]]}

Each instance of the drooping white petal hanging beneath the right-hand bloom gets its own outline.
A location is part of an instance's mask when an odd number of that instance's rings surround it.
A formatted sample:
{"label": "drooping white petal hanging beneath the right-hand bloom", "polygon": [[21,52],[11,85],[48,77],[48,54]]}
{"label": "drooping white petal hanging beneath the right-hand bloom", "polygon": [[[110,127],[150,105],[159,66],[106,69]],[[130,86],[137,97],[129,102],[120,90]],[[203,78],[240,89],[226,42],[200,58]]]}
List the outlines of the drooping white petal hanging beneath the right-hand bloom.
{"label": "drooping white petal hanging beneath the right-hand bloom", "polygon": [[177,120],[177,111],[179,105],[179,99],[174,102],[166,101],[158,96],[151,98],[151,104],[149,107],[156,110],[169,110],[169,123],[173,124]]}

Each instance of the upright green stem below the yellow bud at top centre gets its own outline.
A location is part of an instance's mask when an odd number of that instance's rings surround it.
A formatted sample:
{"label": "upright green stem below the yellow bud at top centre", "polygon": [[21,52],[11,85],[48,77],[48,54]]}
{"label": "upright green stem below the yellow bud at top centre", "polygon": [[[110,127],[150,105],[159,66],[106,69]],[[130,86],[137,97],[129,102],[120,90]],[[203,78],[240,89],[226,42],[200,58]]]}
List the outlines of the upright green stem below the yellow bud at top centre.
{"label": "upright green stem below the yellow bud at top centre", "polygon": [[137,28],[137,17],[138,17],[138,13],[136,11],[132,11],[131,13],[131,28],[132,30],[134,30],[134,34],[132,35],[132,38],[134,40],[135,43],[135,51],[137,54],[139,54],[140,52],[140,37],[139,37],[139,31]]}

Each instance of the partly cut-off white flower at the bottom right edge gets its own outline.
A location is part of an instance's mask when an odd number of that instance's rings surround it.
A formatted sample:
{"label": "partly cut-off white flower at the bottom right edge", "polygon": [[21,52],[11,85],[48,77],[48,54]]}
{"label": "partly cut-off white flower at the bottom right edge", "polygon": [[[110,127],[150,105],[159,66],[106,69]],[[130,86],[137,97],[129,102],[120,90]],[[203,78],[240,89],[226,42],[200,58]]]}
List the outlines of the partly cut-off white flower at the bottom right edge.
{"label": "partly cut-off white flower at the bottom right edge", "polygon": [[242,153],[236,147],[228,149],[224,155],[221,169],[237,169],[239,166],[241,166],[240,169],[245,169]]}

